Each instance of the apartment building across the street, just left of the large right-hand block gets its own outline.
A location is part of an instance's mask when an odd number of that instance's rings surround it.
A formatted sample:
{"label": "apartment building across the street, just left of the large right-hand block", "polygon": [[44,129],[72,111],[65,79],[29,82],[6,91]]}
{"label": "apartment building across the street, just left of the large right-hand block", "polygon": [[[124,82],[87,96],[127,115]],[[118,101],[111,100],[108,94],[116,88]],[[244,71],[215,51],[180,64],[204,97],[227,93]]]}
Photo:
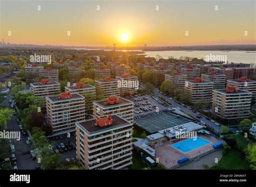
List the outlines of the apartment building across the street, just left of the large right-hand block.
{"label": "apartment building across the street, just left of the large right-hand block", "polygon": [[194,81],[186,81],[184,88],[190,92],[192,103],[212,102],[213,82],[198,77]]}

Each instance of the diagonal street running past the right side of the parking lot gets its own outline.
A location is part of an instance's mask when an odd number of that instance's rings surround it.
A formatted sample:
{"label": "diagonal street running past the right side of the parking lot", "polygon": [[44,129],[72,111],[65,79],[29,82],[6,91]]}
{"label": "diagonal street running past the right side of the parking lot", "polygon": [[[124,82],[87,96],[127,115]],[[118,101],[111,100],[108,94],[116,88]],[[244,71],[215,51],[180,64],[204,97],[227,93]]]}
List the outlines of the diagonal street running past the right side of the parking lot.
{"label": "diagonal street running past the right side of the parking lot", "polygon": [[[142,85],[142,87],[145,88],[144,83],[139,82],[139,84]],[[172,107],[179,107],[184,112],[189,113],[191,115],[191,117],[193,117],[194,119],[197,119],[199,121],[204,121],[207,126],[212,127],[215,132],[220,133],[220,126],[215,125],[210,120],[207,120],[201,114],[200,115],[196,114],[196,112],[193,112],[192,109],[188,109],[187,107],[182,106],[181,104],[177,103],[175,100],[170,99],[169,97],[165,96],[164,94],[162,94],[158,91],[159,91],[158,89],[154,89],[154,91],[153,91],[154,95],[158,95],[158,96],[164,98],[167,102],[172,104]],[[197,116],[201,116],[201,118],[197,118]]]}

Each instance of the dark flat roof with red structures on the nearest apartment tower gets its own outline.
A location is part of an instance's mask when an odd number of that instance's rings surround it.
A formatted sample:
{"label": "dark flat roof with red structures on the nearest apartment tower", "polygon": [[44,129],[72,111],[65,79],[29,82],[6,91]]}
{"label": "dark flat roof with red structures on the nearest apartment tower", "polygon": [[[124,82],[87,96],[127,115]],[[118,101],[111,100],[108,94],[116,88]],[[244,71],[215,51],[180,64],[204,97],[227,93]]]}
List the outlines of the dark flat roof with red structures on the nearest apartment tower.
{"label": "dark flat roof with red structures on the nearest apartment tower", "polygon": [[[104,121],[106,125],[100,126],[98,121]],[[120,118],[117,115],[103,116],[100,118],[89,119],[83,122],[76,123],[88,134],[95,134],[97,132],[111,130],[112,128],[121,126],[121,125],[130,125],[129,121],[126,121],[123,118]]]}

